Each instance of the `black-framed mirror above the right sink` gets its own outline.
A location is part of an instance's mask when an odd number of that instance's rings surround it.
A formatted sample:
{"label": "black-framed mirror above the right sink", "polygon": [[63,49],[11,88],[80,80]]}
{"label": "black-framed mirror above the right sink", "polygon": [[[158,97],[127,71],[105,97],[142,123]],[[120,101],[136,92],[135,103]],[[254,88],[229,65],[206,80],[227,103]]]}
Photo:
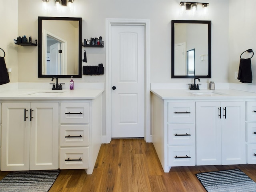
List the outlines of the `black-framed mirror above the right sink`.
{"label": "black-framed mirror above the right sink", "polygon": [[211,78],[211,39],[211,21],[172,20],[171,77]]}

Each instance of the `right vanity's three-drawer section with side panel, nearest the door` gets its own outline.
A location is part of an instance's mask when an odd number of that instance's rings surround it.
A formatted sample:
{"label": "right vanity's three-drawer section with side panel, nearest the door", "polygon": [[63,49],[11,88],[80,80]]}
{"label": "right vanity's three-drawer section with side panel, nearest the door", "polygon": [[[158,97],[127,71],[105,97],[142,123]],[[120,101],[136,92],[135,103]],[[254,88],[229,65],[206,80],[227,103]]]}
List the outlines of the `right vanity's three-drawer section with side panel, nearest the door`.
{"label": "right vanity's three-drawer section with side panel, nearest the door", "polygon": [[153,144],[164,172],[194,166],[195,102],[172,102],[152,95]]}

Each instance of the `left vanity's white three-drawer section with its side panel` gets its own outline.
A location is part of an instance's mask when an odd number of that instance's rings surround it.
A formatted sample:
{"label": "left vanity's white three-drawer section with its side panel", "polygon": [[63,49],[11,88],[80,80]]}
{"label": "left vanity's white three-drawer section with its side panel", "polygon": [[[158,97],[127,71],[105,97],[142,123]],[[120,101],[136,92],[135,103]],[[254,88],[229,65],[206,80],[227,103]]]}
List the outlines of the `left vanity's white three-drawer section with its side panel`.
{"label": "left vanity's white three-drawer section with its side panel", "polygon": [[92,174],[101,145],[102,98],[60,103],[60,169]]}

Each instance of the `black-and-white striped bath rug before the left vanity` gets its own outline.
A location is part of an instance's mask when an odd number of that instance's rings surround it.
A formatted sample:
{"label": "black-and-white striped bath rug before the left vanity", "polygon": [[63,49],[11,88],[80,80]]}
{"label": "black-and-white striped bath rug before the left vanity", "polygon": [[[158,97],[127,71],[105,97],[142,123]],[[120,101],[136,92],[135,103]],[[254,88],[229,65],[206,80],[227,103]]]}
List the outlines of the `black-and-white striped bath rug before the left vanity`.
{"label": "black-and-white striped bath rug before the left vanity", "polygon": [[13,171],[0,181],[0,192],[48,192],[60,170]]}

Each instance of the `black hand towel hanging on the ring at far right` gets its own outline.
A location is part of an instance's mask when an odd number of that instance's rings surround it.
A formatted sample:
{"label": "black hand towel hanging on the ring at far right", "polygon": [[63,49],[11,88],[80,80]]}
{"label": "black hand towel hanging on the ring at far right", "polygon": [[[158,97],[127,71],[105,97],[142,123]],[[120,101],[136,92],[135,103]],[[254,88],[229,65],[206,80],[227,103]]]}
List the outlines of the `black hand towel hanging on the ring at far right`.
{"label": "black hand towel hanging on the ring at far right", "polygon": [[252,64],[251,59],[241,59],[238,71],[238,78],[242,83],[252,82]]}

